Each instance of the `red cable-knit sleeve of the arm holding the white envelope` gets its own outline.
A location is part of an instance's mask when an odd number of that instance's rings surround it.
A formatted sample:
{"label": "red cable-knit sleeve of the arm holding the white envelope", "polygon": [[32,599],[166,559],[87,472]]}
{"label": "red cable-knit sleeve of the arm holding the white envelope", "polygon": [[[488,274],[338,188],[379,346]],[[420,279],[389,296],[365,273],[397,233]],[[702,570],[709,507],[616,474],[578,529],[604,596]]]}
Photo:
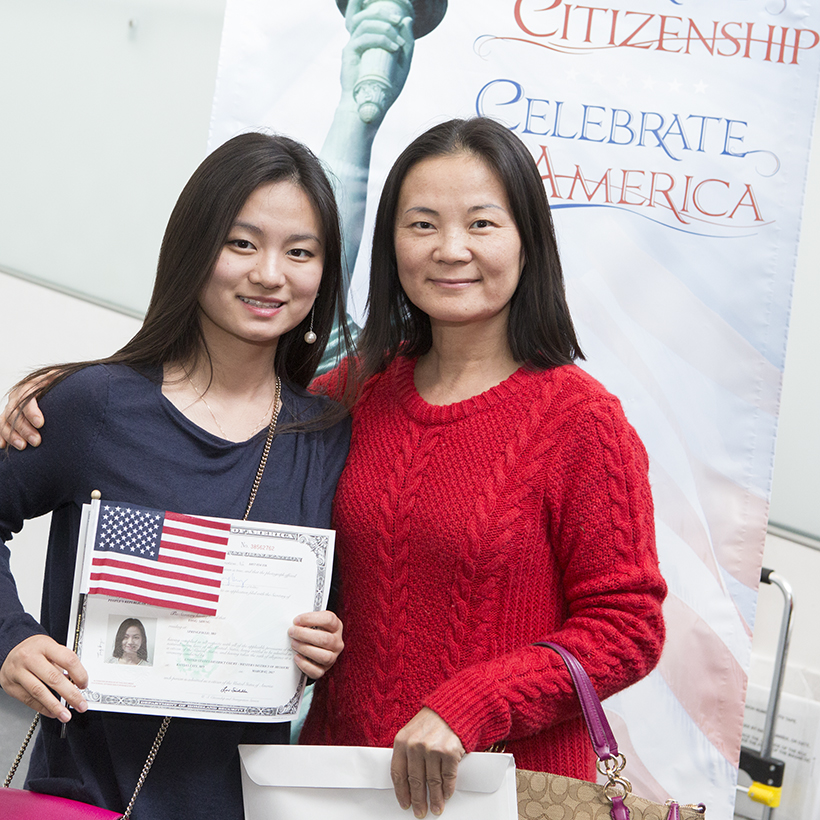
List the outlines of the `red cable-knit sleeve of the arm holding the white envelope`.
{"label": "red cable-knit sleeve of the arm holding the white envelope", "polygon": [[[566,412],[543,459],[544,550],[556,556],[565,620],[537,636],[569,649],[604,699],[647,675],[664,639],[646,451],[609,397]],[[551,436],[553,436],[551,433]],[[580,713],[558,655],[530,644],[470,666],[424,705],[468,751],[536,734]]]}

